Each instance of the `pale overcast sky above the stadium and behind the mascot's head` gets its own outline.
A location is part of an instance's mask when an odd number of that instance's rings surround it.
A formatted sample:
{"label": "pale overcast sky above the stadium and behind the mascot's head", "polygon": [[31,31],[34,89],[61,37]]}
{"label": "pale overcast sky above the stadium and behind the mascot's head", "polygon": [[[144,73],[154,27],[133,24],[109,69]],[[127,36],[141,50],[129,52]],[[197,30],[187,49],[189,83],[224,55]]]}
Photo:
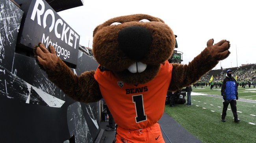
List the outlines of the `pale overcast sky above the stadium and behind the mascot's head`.
{"label": "pale overcast sky above the stadium and behind the mascot's head", "polygon": [[149,14],[165,21],[178,37],[177,51],[188,64],[213,38],[230,41],[230,56],[213,69],[256,63],[256,8],[253,0],[83,0],[58,14],[92,48],[93,30],[110,18]]}

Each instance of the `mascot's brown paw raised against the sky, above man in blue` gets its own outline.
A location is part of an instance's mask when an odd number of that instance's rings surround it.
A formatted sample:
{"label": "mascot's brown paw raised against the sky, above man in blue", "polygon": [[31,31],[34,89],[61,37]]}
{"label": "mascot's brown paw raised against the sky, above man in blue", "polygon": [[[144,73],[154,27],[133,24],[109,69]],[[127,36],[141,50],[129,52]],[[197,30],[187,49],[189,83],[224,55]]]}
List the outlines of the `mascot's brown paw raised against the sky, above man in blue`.
{"label": "mascot's brown paw raised against the sky, above man in blue", "polygon": [[230,43],[227,40],[221,40],[220,42],[213,45],[214,40],[210,39],[207,42],[207,49],[210,55],[216,60],[224,60],[230,54],[228,49],[230,48]]}

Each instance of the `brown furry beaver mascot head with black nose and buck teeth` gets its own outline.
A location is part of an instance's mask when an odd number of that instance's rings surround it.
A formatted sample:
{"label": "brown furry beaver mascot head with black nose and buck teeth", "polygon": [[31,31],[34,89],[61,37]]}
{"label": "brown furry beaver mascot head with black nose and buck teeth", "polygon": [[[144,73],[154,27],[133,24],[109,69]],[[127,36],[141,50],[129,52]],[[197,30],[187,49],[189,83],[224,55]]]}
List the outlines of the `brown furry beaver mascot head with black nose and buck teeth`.
{"label": "brown furry beaver mascot head with black nose and buck teeth", "polygon": [[171,28],[147,14],[112,18],[93,31],[97,62],[120,80],[134,85],[152,80],[174,47]]}

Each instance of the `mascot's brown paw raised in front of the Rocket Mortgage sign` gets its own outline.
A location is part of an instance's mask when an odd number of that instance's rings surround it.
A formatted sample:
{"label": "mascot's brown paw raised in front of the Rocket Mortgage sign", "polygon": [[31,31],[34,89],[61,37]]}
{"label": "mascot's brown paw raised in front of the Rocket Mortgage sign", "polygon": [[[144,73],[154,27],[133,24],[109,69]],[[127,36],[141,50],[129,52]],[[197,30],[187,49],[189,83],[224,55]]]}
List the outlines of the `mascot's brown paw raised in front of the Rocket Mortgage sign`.
{"label": "mascot's brown paw raised in front of the Rocket Mortgage sign", "polygon": [[58,56],[54,47],[49,45],[48,49],[49,51],[43,43],[38,43],[33,49],[35,60],[43,70],[54,68],[58,62]]}

